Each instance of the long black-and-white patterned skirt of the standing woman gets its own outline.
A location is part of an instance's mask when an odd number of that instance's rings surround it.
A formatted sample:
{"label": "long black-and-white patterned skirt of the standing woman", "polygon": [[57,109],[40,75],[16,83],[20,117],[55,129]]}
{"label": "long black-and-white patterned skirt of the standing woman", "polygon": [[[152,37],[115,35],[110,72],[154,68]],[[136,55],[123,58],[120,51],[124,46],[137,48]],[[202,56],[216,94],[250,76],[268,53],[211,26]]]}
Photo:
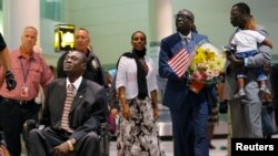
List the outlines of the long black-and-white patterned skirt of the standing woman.
{"label": "long black-and-white patterned skirt of the standing woman", "polygon": [[120,114],[117,132],[118,156],[165,156],[160,149],[158,129],[153,119],[151,101],[133,98],[127,101],[131,116]]}

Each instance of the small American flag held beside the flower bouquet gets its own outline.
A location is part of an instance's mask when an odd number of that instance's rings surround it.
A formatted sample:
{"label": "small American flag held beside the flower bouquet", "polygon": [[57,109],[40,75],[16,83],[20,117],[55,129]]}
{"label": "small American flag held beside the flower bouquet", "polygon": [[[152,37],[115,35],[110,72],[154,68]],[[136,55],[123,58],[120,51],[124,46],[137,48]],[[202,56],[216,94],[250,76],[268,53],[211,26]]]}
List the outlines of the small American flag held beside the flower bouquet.
{"label": "small American flag held beside the flower bouquet", "polygon": [[193,51],[189,53],[186,49],[181,49],[168,61],[168,64],[171,66],[173,72],[181,77],[191,64],[193,55]]}

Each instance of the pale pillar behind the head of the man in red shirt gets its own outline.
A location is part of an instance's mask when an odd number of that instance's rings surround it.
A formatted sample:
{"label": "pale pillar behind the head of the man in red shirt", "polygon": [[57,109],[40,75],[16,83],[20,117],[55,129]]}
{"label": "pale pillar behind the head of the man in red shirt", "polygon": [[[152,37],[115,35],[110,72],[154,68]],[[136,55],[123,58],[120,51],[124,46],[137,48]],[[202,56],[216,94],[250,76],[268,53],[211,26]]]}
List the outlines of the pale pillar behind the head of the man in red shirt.
{"label": "pale pillar behind the head of the man in red shirt", "polygon": [[17,49],[26,27],[38,29],[40,45],[40,0],[3,0],[3,35],[9,49]]}

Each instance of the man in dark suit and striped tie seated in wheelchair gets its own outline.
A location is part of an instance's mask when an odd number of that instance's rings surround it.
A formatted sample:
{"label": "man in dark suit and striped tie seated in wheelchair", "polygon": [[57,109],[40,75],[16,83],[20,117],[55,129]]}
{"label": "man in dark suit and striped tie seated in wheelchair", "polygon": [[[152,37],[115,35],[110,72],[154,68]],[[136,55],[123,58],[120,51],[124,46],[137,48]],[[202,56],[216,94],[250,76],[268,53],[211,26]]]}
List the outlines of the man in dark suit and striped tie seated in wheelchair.
{"label": "man in dark suit and striped tie seated in wheelchair", "polygon": [[[108,113],[106,90],[82,77],[86,55],[81,52],[68,53],[63,70],[67,77],[53,81],[47,92],[40,123],[46,128],[32,129],[29,134],[30,153],[32,156],[98,156],[100,124],[106,122]],[[68,117],[63,117],[69,84],[75,89],[73,101]]]}

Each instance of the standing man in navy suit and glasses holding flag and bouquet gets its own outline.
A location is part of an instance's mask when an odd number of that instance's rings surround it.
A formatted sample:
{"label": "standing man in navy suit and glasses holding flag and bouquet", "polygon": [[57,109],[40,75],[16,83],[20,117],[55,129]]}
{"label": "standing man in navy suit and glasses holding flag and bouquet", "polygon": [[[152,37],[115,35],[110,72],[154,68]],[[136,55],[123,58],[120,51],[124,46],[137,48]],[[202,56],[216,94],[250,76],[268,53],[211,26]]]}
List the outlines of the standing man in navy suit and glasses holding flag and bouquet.
{"label": "standing man in navy suit and glasses holding flag and bouquet", "polygon": [[[198,34],[193,24],[195,17],[182,9],[176,17],[177,33],[161,40],[159,53],[159,74],[167,79],[163,105],[170,108],[173,132],[175,156],[208,156],[208,96],[209,89],[199,94],[189,91],[188,76],[179,77],[168,61],[180,50],[193,52],[196,44],[208,40]],[[185,39],[186,38],[186,39]]]}

